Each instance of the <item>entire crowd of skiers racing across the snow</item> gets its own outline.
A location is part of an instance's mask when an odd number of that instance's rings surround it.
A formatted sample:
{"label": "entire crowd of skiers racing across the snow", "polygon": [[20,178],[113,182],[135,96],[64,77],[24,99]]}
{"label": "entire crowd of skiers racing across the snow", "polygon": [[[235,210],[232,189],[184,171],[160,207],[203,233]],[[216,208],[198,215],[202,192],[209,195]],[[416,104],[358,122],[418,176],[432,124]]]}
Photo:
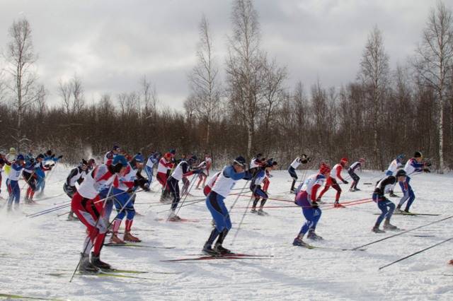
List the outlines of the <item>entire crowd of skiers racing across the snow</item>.
{"label": "entire crowd of skiers racing across the snow", "polygon": [[[62,156],[56,157],[52,151],[37,155],[35,158],[33,156],[25,158],[21,154],[13,156],[15,153],[15,149],[11,148],[8,155],[0,155],[0,167],[8,167],[5,168],[5,170],[8,169],[7,187],[10,194],[8,208],[11,208],[12,203],[18,205],[20,199],[18,179],[21,177],[21,173],[25,182],[28,183],[25,202],[33,201],[33,195],[38,187],[36,182],[39,181],[41,172],[45,175],[45,172],[52,170],[55,163],[62,158]],[[401,206],[406,201],[406,208],[401,212],[408,213],[415,199],[415,194],[410,185],[410,175],[416,172],[429,172],[429,164],[423,163],[423,155],[420,152],[415,152],[413,158],[407,161],[403,169],[401,169],[402,160],[403,156],[398,155],[392,161],[385,177],[377,182],[374,189],[372,200],[377,203],[382,213],[372,228],[373,232],[382,233],[384,230],[398,229],[390,223],[392,214],[395,210],[401,211]],[[52,164],[48,164],[49,161],[52,161]],[[303,240],[304,235],[310,240],[322,240],[322,237],[316,234],[316,225],[321,218],[322,212],[319,203],[322,203],[323,194],[330,187],[335,189],[336,197],[333,206],[343,208],[340,203],[342,192],[340,182],[348,184],[346,178],[342,176],[343,169],[347,169],[348,175],[352,179],[350,191],[358,191],[360,189],[357,188],[357,184],[360,177],[356,172],[365,164],[363,158],[349,166],[348,158],[341,158],[339,163],[332,168],[326,163],[321,163],[316,174],[306,177],[302,184],[295,188],[298,179],[297,168],[299,165],[307,164],[310,161],[311,158],[302,154],[288,168],[289,175],[293,179],[290,191],[295,194],[294,203],[302,207],[302,215],[306,219],[293,241],[295,246],[302,247],[307,246]],[[172,149],[164,155],[153,151],[147,158],[144,158],[141,153],[128,155],[115,145],[105,153],[102,164],[96,165],[96,161],[93,159],[82,160],[77,167],[69,172],[66,182],[63,184],[64,192],[71,198],[69,219],[75,219],[75,214],[76,218],[84,223],[88,232],[79,263],[81,272],[96,272],[100,268],[110,268],[109,264],[100,259],[101,249],[108,232],[111,232],[110,244],[140,242],[138,237],[131,234],[132,223],[136,215],[134,200],[139,189],[150,190],[149,187],[154,179],[155,165],[157,165],[156,179],[161,184],[161,201],[171,201],[170,213],[167,218],[169,221],[181,220],[177,214],[181,196],[189,193],[190,188],[195,184],[195,180],[198,179],[196,189],[200,189],[200,184],[202,185],[206,196],[206,206],[214,223],[214,228],[210,232],[202,252],[212,256],[231,254],[231,251],[223,246],[225,237],[231,230],[229,211],[226,209],[224,199],[229,196],[234,184],[240,179],[250,181],[249,189],[252,192],[251,200],[253,199],[251,213],[265,216],[267,213],[263,208],[268,200],[267,191],[270,177],[272,177],[271,171],[278,166],[272,158],[267,159],[261,153],[258,153],[248,167],[246,159],[239,156],[230,165],[212,175],[205,184],[212,166],[212,159],[207,153],[203,160],[198,160],[195,155],[181,155],[181,158],[176,160],[176,151]],[[142,175],[142,170],[147,177]],[[190,175],[197,176],[189,180]],[[183,182],[182,189],[179,187],[180,181]],[[398,206],[395,207],[394,203],[386,199],[384,194],[389,191],[390,196],[394,196],[396,182],[400,184],[404,195]],[[322,191],[320,191],[321,187],[323,187]],[[260,206],[257,210],[259,201]],[[110,221],[113,206],[115,206],[116,215]],[[125,233],[120,238],[118,231],[123,219],[126,219]],[[379,226],[384,219],[384,230],[380,230]],[[91,252],[91,250],[93,251]]]}

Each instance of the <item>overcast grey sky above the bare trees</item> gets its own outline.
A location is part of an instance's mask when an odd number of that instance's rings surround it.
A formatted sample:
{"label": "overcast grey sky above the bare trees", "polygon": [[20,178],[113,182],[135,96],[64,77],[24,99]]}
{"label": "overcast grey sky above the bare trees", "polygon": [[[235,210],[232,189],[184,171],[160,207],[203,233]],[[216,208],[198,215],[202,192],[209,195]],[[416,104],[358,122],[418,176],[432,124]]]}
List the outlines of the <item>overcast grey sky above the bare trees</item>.
{"label": "overcast grey sky above the bare trees", "polygon": [[[445,1],[452,8],[453,0]],[[57,85],[76,73],[88,102],[103,93],[139,89],[146,75],[161,105],[179,108],[188,95],[202,13],[210,22],[223,69],[231,0],[0,0],[0,49],[13,20],[25,17],[39,54],[40,81],[59,102]],[[420,41],[435,0],[255,0],[262,47],[287,66],[287,86],[321,81],[340,86],[356,77],[367,35],[377,25],[391,67],[405,64]]]}

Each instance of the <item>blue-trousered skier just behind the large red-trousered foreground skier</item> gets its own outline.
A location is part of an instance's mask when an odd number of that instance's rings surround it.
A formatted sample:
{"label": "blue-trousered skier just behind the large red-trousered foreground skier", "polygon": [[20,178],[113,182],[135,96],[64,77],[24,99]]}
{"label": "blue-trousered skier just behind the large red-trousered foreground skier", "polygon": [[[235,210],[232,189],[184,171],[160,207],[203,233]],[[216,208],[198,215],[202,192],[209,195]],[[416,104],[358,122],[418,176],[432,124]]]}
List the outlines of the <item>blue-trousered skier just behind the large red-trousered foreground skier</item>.
{"label": "blue-trousered skier just behind the large red-trousered foreground skier", "polygon": [[[141,153],[134,155],[124,172],[121,172],[117,177],[118,181],[113,184],[112,194],[113,203],[117,211],[117,216],[113,221],[113,233],[110,237],[110,243],[124,244],[128,242],[141,242],[138,237],[132,235],[131,228],[134,223],[135,209],[134,201],[135,194],[133,192],[137,187],[142,187],[144,190],[148,189],[147,179],[145,179],[140,171],[143,168],[144,158]],[[125,235],[123,240],[118,237],[118,230],[122,219],[126,217],[125,221]]]}

